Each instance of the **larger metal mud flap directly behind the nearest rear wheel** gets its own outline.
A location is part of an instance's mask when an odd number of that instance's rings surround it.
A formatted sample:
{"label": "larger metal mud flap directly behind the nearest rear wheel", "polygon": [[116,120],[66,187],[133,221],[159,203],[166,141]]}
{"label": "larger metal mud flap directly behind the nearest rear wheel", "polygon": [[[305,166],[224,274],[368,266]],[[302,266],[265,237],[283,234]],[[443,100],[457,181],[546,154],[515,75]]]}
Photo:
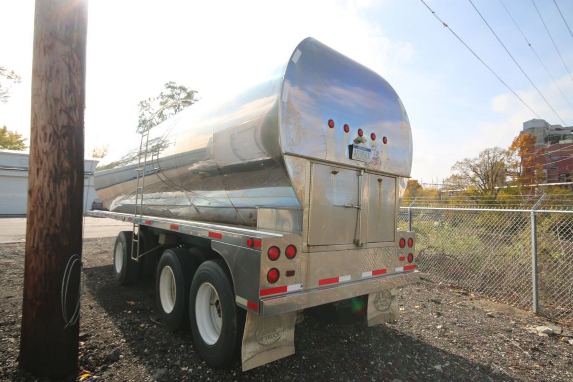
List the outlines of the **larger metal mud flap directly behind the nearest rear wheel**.
{"label": "larger metal mud flap directly behind the nearest rear wheel", "polygon": [[241,346],[243,371],[295,354],[296,312],[262,318],[247,312]]}

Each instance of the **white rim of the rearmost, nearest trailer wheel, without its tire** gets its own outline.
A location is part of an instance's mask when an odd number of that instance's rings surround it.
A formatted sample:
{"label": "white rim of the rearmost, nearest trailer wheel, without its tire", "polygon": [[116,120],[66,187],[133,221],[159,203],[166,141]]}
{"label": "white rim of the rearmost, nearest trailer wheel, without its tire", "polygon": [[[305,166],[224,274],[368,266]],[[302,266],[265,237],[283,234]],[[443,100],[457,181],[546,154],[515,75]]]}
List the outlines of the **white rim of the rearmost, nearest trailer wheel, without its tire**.
{"label": "white rim of the rearmost, nearest trailer wheel, without its tire", "polygon": [[197,290],[195,319],[203,341],[209,345],[215,344],[221,336],[223,314],[217,290],[208,282],[202,283]]}

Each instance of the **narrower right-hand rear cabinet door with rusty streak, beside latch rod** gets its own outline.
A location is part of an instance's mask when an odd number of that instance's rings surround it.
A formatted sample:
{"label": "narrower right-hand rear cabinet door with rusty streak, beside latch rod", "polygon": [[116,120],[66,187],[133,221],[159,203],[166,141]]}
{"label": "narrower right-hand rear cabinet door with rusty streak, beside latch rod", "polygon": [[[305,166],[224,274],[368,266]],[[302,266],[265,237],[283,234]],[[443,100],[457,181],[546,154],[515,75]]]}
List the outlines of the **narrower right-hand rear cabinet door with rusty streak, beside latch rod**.
{"label": "narrower right-hand rear cabinet door with rusty streak, beside latch rod", "polygon": [[368,174],[368,243],[394,241],[395,203],[396,178]]}

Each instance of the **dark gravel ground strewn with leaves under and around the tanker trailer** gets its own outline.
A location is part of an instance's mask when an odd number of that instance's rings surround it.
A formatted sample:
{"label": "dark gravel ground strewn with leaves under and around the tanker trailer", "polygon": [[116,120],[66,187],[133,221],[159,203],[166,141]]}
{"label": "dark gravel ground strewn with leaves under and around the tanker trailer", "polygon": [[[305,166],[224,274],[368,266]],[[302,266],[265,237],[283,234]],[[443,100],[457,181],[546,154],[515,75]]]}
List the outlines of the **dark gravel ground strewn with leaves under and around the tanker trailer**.
{"label": "dark gravel ground strewn with leaves under and around the tanker trailer", "polygon": [[[305,316],[296,326],[295,355],[248,372],[238,361],[213,369],[195,352],[189,330],[171,333],[151,320],[153,285],[115,285],[114,240],[84,244],[84,380],[573,380],[569,329],[538,336],[531,327],[551,322],[428,281],[401,290],[396,324],[368,328],[363,321],[336,325]],[[17,366],[23,251],[22,243],[0,245],[1,380],[35,380]]]}

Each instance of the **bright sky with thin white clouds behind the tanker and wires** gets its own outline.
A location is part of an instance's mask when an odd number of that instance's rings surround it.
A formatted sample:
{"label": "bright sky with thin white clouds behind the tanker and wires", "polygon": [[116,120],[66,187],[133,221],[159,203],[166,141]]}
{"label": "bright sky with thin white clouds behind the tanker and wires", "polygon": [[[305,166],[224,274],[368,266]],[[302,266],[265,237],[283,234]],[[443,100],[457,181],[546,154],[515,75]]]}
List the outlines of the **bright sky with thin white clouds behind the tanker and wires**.
{"label": "bright sky with thin white clouds behind the tanker and wires", "polygon": [[[472,0],[566,125],[573,107],[527,46],[500,0]],[[555,0],[573,28],[573,1]],[[427,4],[521,99],[562,124],[466,0]],[[503,0],[569,103],[567,73],[531,0]],[[288,4],[288,5],[287,5]],[[535,0],[568,69],[573,36],[554,0]],[[22,77],[0,104],[0,125],[29,136],[34,2],[0,0],[0,65]],[[199,98],[248,88],[261,70],[288,60],[314,37],[384,77],[413,133],[411,176],[441,182],[452,165],[488,147],[508,147],[535,115],[433,17],[420,0],[121,1],[88,10],[86,148],[139,144],[137,104],[167,81]],[[133,143],[129,143],[132,141]]]}

